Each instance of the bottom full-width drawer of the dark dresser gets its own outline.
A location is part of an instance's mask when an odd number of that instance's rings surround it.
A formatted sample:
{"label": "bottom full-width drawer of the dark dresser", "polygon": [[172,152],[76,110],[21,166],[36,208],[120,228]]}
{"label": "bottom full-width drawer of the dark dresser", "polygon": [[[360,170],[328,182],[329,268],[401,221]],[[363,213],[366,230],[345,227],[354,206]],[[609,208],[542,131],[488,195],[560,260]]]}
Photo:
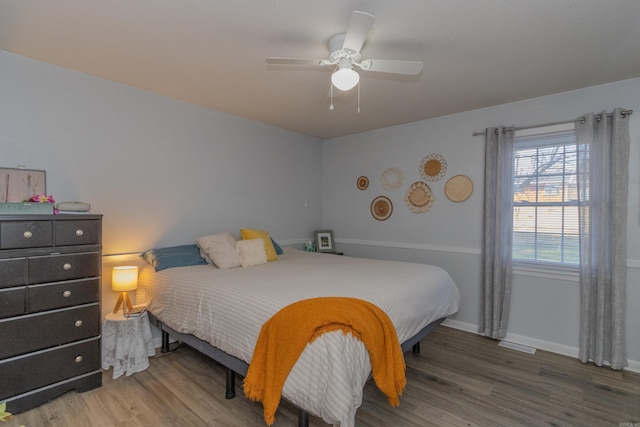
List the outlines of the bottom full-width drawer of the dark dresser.
{"label": "bottom full-width drawer of the dark dresser", "polygon": [[0,362],[0,401],[100,369],[100,339]]}

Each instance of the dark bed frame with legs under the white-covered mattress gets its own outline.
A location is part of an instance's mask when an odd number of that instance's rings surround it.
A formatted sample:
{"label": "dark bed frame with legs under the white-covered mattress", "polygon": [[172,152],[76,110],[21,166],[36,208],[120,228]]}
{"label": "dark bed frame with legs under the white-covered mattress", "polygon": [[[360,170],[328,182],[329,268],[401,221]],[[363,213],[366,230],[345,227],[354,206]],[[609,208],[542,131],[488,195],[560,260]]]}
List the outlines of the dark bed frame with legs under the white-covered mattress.
{"label": "dark bed frame with legs under the white-covered mattress", "polygon": [[[420,341],[438,325],[440,325],[445,318],[434,320],[429,323],[427,326],[422,328],[417,334],[406,340],[401,344],[402,352],[406,353],[409,349],[412,349],[413,354],[420,354]],[[156,318],[153,314],[149,313],[149,320],[151,324],[155,325],[162,331],[162,348],[161,351],[163,353],[168,353],[170,351],[169,348],[169,337],[173,337],[175,340],[182,342],[189,347],[199,351],[200,353],[210,357],[216,362],[220,363],[225,368],[226,372],[226,392],[225,398],[233,399],[236,397],[236,374],[245,377],[247,375],[247,371],[249,370],[249,364],[245,361],[238,359],[235,356],[232,356],[224,351],[212,346],[206,341],[202,341],[201,339],[195,337],[190,334],[183,334],[175,331],[169,326],[162,323],[161,320]],[[298,412],[298,427],[308,427],[309,426],[309,414],[304,409],[299,409]]]}

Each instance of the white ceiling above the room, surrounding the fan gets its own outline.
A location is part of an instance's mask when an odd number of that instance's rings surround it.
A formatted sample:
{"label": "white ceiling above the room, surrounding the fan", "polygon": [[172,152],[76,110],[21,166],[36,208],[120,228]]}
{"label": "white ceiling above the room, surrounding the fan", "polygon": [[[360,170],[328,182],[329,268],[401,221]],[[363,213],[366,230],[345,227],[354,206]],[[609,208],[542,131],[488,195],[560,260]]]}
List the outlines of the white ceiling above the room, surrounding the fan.
{"label": "white ceiling above the room, surrounding the fan", "polygon": [[[375,15],[334,99],[327,58],[353,10]],[[639,0],[0,0],[0,49],[318,138],[640,76]],[[0,71],[1,72],[1,71]]]}

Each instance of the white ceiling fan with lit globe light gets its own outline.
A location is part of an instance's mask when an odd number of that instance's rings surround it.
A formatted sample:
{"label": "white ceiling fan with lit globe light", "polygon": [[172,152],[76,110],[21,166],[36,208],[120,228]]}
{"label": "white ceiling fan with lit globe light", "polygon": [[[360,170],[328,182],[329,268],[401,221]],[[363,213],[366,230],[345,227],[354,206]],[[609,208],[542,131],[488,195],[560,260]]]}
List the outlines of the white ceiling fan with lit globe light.
{"label": "white ceiling fan with lit globe light", "polygon": [[329,40],[329,59],[269,57],[267,64],[334,66],[336,70],[331,75],[331,83],[343,91],[354,88],[360,81],[360,75],[353,69],[354,66],[363,71],[411,76],[420,74],[424,65],[420,61],[362,59],[360,49],[371,31],[375,19],[369,13],[354,11],[351,14],[347,32],[335,35]]}

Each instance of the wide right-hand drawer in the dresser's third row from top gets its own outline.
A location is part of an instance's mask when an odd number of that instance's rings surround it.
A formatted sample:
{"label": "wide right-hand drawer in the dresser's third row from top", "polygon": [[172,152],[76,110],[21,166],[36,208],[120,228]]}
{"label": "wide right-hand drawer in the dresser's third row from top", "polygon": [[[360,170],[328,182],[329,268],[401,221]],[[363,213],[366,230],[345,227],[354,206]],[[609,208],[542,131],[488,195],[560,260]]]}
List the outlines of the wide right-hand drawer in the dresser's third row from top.
{"label": "wide right-hand drawer in the dresser's third row from top", "polygon": [[82,279],[27,287],[27,311],[53,310],[100,299],[100,279]]}

